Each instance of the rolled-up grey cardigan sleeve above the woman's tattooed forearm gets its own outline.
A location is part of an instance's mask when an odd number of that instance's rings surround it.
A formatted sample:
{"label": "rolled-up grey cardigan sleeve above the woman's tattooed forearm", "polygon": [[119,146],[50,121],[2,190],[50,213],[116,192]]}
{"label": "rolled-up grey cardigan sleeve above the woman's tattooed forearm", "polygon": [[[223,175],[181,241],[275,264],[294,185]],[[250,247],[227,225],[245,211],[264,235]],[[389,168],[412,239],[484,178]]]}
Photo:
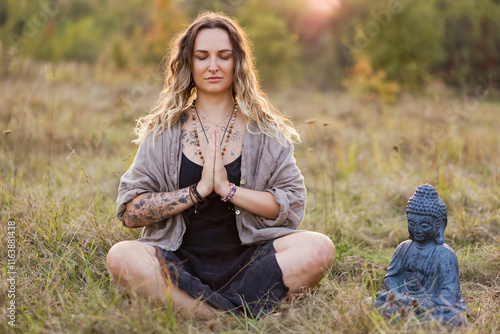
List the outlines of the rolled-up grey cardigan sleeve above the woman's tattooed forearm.
{"label": "rolled-up grey cardigan sleeve above the woman's tattooed forearm", "polygon": [[159,192],[162,180],[161,140],[147,136],[139,145],[134,162],[122,175],[116,199],[116,216],[125,225],[123,214],[128,202],[146,192]]}

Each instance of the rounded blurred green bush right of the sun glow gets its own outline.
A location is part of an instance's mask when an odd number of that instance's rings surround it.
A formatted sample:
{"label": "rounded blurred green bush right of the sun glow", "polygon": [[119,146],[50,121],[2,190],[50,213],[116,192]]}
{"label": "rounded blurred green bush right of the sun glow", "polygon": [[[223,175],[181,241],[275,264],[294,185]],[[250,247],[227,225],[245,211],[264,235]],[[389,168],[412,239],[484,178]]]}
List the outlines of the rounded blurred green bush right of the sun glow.
{"label": "rounded blurred green bush right of the sun glow", "polygon": [[399,7],[379,3],[354,35],[355,58],[367,57],[388,80],[411,89],[427,82],[430,67],[444,59],[444,27],[435,1],[406,1]]}

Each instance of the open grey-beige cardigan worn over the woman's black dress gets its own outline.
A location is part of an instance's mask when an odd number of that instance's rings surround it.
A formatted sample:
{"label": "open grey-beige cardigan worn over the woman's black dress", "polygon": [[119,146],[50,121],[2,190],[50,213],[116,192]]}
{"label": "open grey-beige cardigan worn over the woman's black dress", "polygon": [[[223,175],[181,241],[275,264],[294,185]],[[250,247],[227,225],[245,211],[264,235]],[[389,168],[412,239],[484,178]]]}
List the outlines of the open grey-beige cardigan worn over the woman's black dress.
{"label": "open grey-beige cardigan worn over the woman's black dress", "polygon": [[[169,192],[179,189],[182,144],[180,122],[154,139],[147,136],[139,145],[134,162],[123,174],[118,189],[117,217],[123,222],[125,205],[145,192]],[[239,186],[268,191],[280,206],[276,220],[265,219],[235,207],[236,225],[243,245],[296,232],[306,206],[304,177],[293,156],[293,145],[280,144],[250,123],[245,131],[241,157]],[[182,214],[145,226],[139,241],[157,245],[165,250],[177,250],[186,231]]]}

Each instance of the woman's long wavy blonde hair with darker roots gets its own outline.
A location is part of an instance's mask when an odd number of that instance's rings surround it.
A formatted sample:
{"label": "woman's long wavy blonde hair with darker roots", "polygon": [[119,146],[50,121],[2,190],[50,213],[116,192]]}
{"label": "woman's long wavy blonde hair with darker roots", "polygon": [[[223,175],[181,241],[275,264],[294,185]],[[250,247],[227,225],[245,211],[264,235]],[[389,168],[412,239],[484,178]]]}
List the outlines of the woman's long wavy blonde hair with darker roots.
{"label": "woman's long wavy blonde hair with darker roots", "polygon": [[[140,144],[148,135],[155,137],[179,121],[183,111],[196,97],[192,76],[194,42],[202,29],[224,29],[233,46],[234,76],[233,98],[241,112],[254,121],[261,132],[286,141],[300,141],[292,122],[279,112],[262,92],[256,76],[252,50],[243,29],[228,16],[204,12],[183,32],[173,39],[168,64],[165,67],[163,90],[148,115],[137,120],[133,141]],[[247,127],[248,128],[248,127]]]}

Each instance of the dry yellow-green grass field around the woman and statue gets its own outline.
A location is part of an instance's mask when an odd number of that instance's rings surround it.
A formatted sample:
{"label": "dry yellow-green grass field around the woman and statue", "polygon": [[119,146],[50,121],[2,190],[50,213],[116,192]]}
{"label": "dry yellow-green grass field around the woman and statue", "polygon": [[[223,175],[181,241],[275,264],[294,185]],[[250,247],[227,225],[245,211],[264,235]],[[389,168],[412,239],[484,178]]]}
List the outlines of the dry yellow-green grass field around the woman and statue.
{"label": "dry yellow-green grass field around the woman and statue", "polygon": [[[138,237],[116,220],[115,199],[136,149],[134,120],[160,89],[158,71],[16,66],[19,74],[0,86],[1,130],[11,131],[1,134],[1,333],[441,332],[412,316],[384,319],[363,302],[383,289],[392,253],[408,237],[406,201],[427,182],[448,206],[446,242],[471,310],[456,331],[500,331],[499,102],[459,99],[438,86],[393,105],[338,92],[270,93],[302,134],[301,228],[327,234],[336,263],[278,315],[206,321],[123,295],[105,267],[114,243]],[[7,323],[8,224],[17,250],[15,328]]]}

